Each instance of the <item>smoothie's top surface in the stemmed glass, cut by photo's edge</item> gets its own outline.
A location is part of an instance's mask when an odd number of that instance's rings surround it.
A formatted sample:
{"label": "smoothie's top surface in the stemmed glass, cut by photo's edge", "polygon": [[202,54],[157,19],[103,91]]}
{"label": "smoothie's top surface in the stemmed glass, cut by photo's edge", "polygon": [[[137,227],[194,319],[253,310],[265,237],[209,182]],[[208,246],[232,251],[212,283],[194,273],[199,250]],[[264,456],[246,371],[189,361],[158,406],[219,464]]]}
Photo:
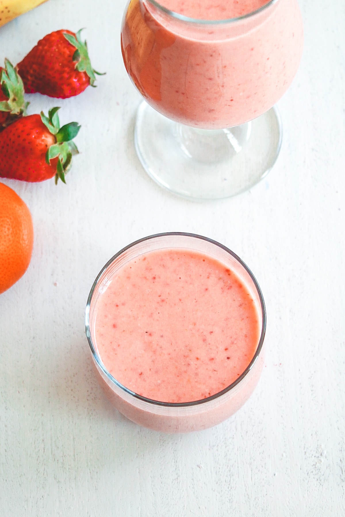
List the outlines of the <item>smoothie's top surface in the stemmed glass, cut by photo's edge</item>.
{"label": "smoothie's top surface in the stemmed glass, cut by photo's edge", "polygon": [[157,0],[158,3],[178,14],[198,20],[229,20],[250,14],[269,0],[228,0],[215,2],[214,0]]}

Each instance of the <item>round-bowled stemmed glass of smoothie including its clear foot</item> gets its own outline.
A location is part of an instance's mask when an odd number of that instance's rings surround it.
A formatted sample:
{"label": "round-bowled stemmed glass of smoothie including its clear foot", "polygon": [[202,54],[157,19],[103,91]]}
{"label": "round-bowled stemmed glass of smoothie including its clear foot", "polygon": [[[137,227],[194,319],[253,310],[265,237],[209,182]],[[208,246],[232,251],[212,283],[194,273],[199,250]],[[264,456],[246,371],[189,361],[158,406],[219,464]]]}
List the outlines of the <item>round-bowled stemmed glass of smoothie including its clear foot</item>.
{"label": "round-bowled stemmed glass of smoothie including its clear foot", "polygon": [[[251,3],[261,7],[206,20],[167,8],[186,4],[179,0],[128,3],[122,53],[145,99],[137,153],[146,172],[176,194],[235,195],[262,179],[278,156],[274,104],[301,60],[302,17],[296,0]],[[215,9],[210,16],[220,18]]]}

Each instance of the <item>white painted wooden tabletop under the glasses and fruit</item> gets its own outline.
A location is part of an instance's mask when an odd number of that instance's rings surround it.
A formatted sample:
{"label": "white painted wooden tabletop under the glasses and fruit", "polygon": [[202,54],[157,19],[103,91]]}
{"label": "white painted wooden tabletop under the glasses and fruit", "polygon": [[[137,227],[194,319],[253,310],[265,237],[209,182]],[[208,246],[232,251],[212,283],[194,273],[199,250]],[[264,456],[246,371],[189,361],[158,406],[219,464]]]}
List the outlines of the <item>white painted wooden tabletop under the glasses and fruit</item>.
{"label": "white painted wooden tabletop under the glasses and fruit", "polygon": [[[140,102],[121,58],[124,0],[49,0],[0,29],[0,63],[43,35],[87,27],[107,75],[78,98],[31,96],[77,120],[68,185],[4,180],[31,209],[32,263],[0,295],[0,514],[341,516],[345,508],[345,7],[299,0],[301,68],[279,102],[283,146],[251,191],[193,203],[161,190],[133,147]],[[104,263],[156,232],[196,232],[234,250],[267,306],[257,390],[208,431],[163,435],[114,410],[84,332]]]}

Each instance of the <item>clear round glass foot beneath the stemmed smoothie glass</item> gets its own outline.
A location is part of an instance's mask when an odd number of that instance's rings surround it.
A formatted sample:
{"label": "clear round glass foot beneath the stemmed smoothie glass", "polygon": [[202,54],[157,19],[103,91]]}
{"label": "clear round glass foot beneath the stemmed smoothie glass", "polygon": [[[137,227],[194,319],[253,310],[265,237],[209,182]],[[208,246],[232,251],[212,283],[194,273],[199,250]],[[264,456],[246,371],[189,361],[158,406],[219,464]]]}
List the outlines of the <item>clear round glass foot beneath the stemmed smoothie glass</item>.
{"label": "clear round glass foot beneath the stemmed smoothie glass", "polygon": [[230,197],[256,185],[274,165],[281,145],[277,109],[241,126],[194,129],[178,124],[145,101],[138,109],[134,142],[158,185],[197,199]]}

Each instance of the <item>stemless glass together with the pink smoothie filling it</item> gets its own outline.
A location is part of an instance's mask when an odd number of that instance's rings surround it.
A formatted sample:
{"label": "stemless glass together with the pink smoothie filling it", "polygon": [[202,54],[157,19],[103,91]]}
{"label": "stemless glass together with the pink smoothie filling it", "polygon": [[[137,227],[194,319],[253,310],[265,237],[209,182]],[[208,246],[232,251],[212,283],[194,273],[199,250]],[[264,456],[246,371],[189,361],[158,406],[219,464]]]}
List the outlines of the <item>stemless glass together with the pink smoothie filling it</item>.
{"label": "stemless glass together with the pink smoothie filling it", "polygon": [[260,287],[239,257],[200,235],[152,235],[117,253],[94,282],[85,327],[104,393],[156,431],[229,418],[263,368]]}

